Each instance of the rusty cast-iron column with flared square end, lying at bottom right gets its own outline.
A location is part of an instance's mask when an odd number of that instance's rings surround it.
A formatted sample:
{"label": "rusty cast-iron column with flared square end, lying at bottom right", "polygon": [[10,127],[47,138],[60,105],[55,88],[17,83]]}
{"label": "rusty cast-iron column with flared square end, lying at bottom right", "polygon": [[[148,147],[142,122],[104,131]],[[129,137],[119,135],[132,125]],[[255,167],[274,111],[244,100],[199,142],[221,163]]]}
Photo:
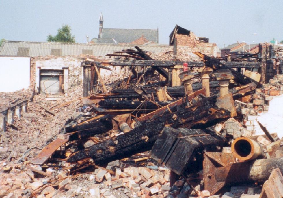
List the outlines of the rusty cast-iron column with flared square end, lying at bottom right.
{"label": "rusty cast-iron column with flared square end, lying at bottom right", "polygon": [[206,152],[203,161],[204,189],[214,195],[224,186],[263,183],[269,178],[273,167],[283,171],[283,157],[234,162],[231,153]]}

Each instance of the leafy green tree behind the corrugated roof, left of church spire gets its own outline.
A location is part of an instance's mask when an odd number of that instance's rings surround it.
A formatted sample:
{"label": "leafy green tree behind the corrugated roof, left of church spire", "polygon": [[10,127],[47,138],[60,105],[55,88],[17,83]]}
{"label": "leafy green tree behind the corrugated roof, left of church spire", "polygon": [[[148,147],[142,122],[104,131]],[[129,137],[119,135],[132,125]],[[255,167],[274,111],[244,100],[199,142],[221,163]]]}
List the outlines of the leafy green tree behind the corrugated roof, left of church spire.
{"label": "leafy green tree behind the corrugated roof, left of church spire", "polygon": [[47,36],[47,41],[75,43],[75,36],[71,34],[71,27],[66,24],[58,29],[56,36],[49,34]]}

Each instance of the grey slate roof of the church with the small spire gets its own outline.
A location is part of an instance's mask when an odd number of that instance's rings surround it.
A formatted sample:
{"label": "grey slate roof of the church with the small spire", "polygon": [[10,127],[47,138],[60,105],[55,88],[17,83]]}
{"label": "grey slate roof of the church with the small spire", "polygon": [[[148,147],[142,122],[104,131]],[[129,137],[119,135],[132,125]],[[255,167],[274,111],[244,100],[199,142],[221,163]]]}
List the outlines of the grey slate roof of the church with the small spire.
{"label": "grey slate roof of the church with the small spire", "polygon": [[154,41],[158,43],[158,29],[113,29],[103,28],[98,43],[131,43],[142,35],[148,41]]}

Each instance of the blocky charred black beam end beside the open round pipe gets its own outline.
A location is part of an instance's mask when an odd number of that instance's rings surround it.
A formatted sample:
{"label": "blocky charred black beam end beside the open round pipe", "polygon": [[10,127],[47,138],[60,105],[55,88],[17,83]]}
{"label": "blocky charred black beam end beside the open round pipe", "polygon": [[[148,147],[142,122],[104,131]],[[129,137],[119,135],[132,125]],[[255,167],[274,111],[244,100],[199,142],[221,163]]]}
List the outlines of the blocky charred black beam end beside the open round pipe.
{"label": "blocky charred black beam end beside the open round pipe", "polygon": [[[218,147],[223,146],[226,142],[226,138],[210,129],[164,127],[150,155],[160,164],[182,175],[186,169],[191,171],[193,164],[202,163],[204,150],[217,151]],[[196,167],[202,168],[202,166]]]}

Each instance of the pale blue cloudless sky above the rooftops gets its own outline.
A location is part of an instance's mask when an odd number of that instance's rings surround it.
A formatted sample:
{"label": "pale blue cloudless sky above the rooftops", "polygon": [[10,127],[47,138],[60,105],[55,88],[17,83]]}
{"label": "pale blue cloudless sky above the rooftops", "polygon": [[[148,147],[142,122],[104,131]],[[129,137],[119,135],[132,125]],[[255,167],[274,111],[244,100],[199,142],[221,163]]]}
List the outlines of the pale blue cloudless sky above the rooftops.
{"label": "pale blue cloudless sky above the rooftops", "polygon": [[[0,39],[46,41],[62,24],[76,42],[97,37],[99,15],[104,28],[159,28],[159,43],[168,44],[176,24],[224,47],[246,41],[283,40],[283,1],[110,1],[0,0]],[[253,35],[256,33],[256,35]]]}

